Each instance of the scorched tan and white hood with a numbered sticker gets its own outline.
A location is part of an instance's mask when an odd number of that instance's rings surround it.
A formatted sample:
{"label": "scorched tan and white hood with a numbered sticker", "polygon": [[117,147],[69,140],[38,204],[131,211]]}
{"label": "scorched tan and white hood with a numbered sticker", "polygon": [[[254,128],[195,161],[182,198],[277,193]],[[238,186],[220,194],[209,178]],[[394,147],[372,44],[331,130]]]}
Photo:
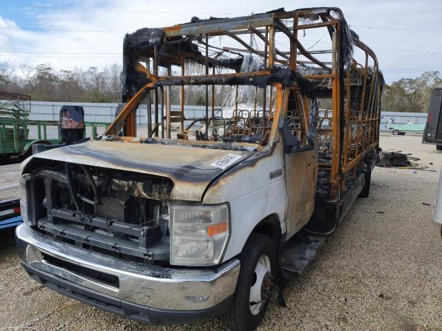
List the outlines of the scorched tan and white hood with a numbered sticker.
{"label": "scorched tan and white hood with a numbered sticker", "polygon": [[48,159],[167,177],[171,199],[201,201],[207,186],[255,152],[160,144],[88,141],[36,154],[22,164],[27,172],[37,159]]}

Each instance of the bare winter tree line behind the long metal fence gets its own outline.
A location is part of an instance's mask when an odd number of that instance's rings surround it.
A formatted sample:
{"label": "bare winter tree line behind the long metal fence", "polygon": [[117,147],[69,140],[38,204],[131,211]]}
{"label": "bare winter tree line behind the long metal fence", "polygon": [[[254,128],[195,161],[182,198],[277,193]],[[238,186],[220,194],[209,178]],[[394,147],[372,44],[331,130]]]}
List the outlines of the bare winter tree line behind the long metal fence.
{"label": "bare winter tree line behind the long metal fence", "polygon": [[[121,102],[122,66],[114,63],[99,70],[55,70],[50,63],[13,66],[0,63],[0,90],[28,94],[35,101]],[[427,112],[433,88],[442,87],[438,71],[428,71],[416,78],[402,78],[385,85],[382,110],[390,112]],[[176,89],[176,87],[174,88]],[[218,93],[221,91],[217,91]],[[217,93],[217,94],[218,94]],[[173,93],[172,103],[179,102]],[[204,91],[186,91],[186,104],[204,106]],[[250,97],[250,95],[244,96]],[[176,99],[176,100],[175,100]]]}

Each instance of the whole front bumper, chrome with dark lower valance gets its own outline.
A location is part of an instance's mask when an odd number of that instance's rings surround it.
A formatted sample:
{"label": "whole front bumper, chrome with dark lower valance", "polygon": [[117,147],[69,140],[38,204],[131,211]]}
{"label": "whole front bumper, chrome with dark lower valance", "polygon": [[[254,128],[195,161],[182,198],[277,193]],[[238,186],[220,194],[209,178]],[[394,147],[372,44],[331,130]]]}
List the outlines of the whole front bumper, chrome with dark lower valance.
{"label": "whole front bumper, chrome with dark lower valance", "polygon": [[211,269],[124,261],[58,241],[25,224],[17,227],[16,240],[21,264],[33,279],[68,297],[153,324],[189,323],[220,314],[231,303],[240,271],[238,259]]}

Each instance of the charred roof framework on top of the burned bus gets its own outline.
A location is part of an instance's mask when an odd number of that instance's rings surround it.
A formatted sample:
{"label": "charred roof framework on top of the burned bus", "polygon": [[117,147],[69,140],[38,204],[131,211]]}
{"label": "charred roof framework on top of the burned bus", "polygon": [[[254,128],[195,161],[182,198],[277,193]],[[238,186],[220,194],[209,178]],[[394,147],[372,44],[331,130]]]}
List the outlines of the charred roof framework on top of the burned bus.
{"label": "charred roof framework on top of the burned bus", "polygon": [[[296,24],[301,20],[304,24],[297,24],[295,29],[295,25],[287,26],[284,22],[287,19],[296,19]],[[320,22],[309,23],[313,21]],[[123,101],[128,101],[142,86],[157,79],[157,66],[167,67],[169,64],[183,66],[185,61],[191,60],[195,63],[206,65],[208,68],[215,66],[229,68],[236,70],[236,72],[240,71],[244,59],[243,54],[229,50],[229,54],[237,54],[238,56],[236,58],[229,57],[228,59],[204,56],[194,41],[206,46],[206,48],[214,47],[207,45],[206,41],[203,40],[203,36],[226,35],[244,46],[245,50],[251,54],[265,58],[269,57],[269,66],[263,69],[273,68],[276,64],[275,62],[278,62],[286,67],[289,64],[289,68],[295,70],[296,64],[294,64],[294,60],[290,58],[289,54],[285,54],[287,52],[278,50],[274,41],[271,41],[272,35],[278,30],[278,32],[284,33],[289,39],[295,41],[296,45],[294,46],[298,52],[307,57],[311,63],[323,69],[321,73],[329,73],[332,71],[332,68],[323,63],[323,61],[316,59],[313,55],[314,52],[306,50],[295,32],[308,28],[327,27],[332,38],[334,30],[336,30],[334,23],[338,22],[343,30],[343,37],[340,40],[341,56],[346,66],[349,66],[352,63],[354,40],[358,40],[358,37],[356,33],[349,29],[343,12],[339,8],[334,7],[304,8],[289,12],[286,12],[284,8],[279,8],[270,12],[235,18],[211,17],[210,19],[201,20],[198,17],[193,17],[191,23],[167,28],[142,28],[132,34],[126,34],[124,39]],[[238,37],[240,34],[256,35],[256,37],[265,41],[266,46],[268,44],[269,50],[267,51],[267,47],[264,52],[253,49]],[[270,34],[270,37],[268,37],[268,34]],[[270,48],[274,49],[275,54],[272,54],[273,52]],[[227,51],[227,49],[224,51]],[[276,57],[276,55],[279,55],[280,58]],[[150,58],[155,59],[153,72],[151,72],[150,68],[144,68],[140,64],[140,62],[148,61]],[[304,67],[303,70],[300,70],[301,72],[309,72],[309,68],[305,63],[298,61],[298,64]],[[310,68],[310,70],[311,72],[317,72],[318,68],[316,70]]]}

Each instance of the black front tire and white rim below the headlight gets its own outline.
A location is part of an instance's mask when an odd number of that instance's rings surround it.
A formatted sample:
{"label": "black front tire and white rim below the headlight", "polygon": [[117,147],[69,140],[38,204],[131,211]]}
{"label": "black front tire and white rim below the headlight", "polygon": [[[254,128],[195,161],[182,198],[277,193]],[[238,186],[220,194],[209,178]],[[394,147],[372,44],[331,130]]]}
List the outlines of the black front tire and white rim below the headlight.
{"label": "black front tire and white rim below the headlight", "polygon": [[269,237],[252,233],[240,261],[233,303],[221,316],[222,323],[232,331],[254,330],[264,318],[276,274],[276,252]]}

